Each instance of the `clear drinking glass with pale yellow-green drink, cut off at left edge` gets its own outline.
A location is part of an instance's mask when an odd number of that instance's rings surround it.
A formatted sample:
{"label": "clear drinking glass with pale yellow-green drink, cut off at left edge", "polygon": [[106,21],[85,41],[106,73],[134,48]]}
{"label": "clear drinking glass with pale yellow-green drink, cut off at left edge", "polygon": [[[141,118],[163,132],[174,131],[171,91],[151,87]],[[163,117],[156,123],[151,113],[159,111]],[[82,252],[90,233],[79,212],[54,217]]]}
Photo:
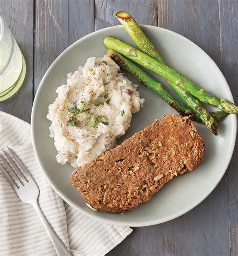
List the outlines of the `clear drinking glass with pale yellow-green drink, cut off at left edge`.
{"label": "clear drinking glass with pale yellow-green drink, cut off at left edge", "polygon": [[0,102],[18,91],[25,74],[24,57],[0,12]]}

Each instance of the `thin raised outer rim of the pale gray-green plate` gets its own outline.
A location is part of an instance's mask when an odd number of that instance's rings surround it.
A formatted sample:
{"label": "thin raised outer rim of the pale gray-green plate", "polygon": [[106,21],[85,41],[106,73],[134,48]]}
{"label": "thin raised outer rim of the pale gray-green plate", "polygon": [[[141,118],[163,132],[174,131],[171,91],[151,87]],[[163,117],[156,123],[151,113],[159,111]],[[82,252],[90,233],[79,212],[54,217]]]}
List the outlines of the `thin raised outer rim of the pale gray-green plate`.
{"label": "thin raised outer rim of the pale gray-green plate", "polygon": [[[190,39],[186,38],[185,36],[183,35],[180,35],[179,33],[177,32],[174,32],[172,30],[168,30],[168,29],[164,29],[164,28],[161,28],[161,27],[157,27],[157,26],[152,26],[152,25],[140,25],[142,28],[145,27],[145,28],[151,28],[151,29],[159,29],[159,30],[162,30],[162,31],[166,31],[168,33],[171,33],[171,34],[174,34],[174,36],[176,37],[182,37],[183,40],[187,41],[187,43],[189,44],[192,44],[192,45],[195,45],[196,47],[198,47],[205,55],[206,57],[211,61],[211,63],[213,64],[213,66],[217,69],[218,72],[221,73],[221,76],[222,76],[222,84],[224,84],[225,86],[225,89],[227,89],[227,91],[229,92],[230,96],[230,100],[232,102],[234,102],[234,99],[233,99],[233,95],[232,95],[232,92],[230,90],[230,87],[223,75],[223,73],[221,72],[221,70],[219,69],[219,67],[217,66],[217,64],[215,63],[215,61],[201,48],[199,47],[197,44],[195,44],[193,41],[191,41]],[[151,225],[157,225],[157,224],[161,224],[161,223],[164,223],[164,222],[167,222],[167,221],[170,221],[170,220],[173,220],[177,217],[180,217],[184,214],[186,214],[187,212],[189,212],[190,210],[194,209],[197,205],[199,205],[202,201],[204,201],[211,193],[212,191],[217,187],[218,183],[221,181],[222,177],[224,176],[229,164],[230,164],[230,161],[231,161],[231,158],[233,156],[233,152],[234,152],[234,147],[235,147],[235,142],[236,142],[236,134],[237,134],[237,129],[236,128],[236,125],[237,125],[237,119],[236,119],[236,116],[233,115],[233,127],[231,128],[231,131],[232,131],[232,143],[231,143],[231,154],[229,156],[229,161],[227,162],[226,164],[226,167],[224,168],[224,170],[222,172],[220,172],[220,177],[218,178],[217,180],[217,183],[211,187],[208,191],[208,193],[203,196],[198,202],[196,202],[195,204],[192,204],[192,206],[186,208],[185,210],[183,211],[180,211],[180,212],[177,212],[177,213],[173,213],[173,214],[170,214],[169,216],[166,216],[166,217],[163,217],[163,218],[160,218],[160,219],[154,219],[154,220],[148,220],[148,221],[142,221],[142,222],[131,222],[131,221],[115,221],[115,220],[110,220],[110,219],[107,219],[105,217],[102,217],[103,215],[93,215],[91,212],[87,212],[85,210],[83,210],[82,208],[80,208],[77,204],[75,204],[70,198],[68,198],[67,196],[65,196],[55,185],[53,182],[51,182],[48,174],[47,174],[47,171],[44,170],[43,168],[43,165],[41,164],[41,160],[40,160],[40,154],[37,150],[37,142],[36,142],[36,136],[35,136],[35,126],[34,126],[34,120],[35,120],[35,117],[36,117],[36,106],[37,106],[37,102],[38,102],[38,97],[40,95],[40,91],[42,90],[43,88],[43,84],[44,84],[44,80],[46,79],[48,73],[50,73],[51,69],[53,68],[53,66],[61,59],[61,57],[66,54],[72,47],[74,47],[74,45],[76,44],[79,44],[81,41],[84,41],[86,40],[87,38],[89,38],[90,36],[95,35],[95,34],[99,34],[101,33],[102,31],[106,31],[106,30],[110,30],[112,28],[118,28],[118,27],[123,27],[122,25],[115,25],[115,26],[110,26],[110,27],[107,27],[107,28],[103,28],[103,29],[100,29],[100,30],[97,30],[97,31],[94,31],[94,32],[91,32],[90,34],[87,34],[86,36],[78,39],[77,41],[75,41],[73,44],[71,44],[70,46],[68,46],[53,62],[52,64],[49,66],[49,68],[47,69],[46,73],[44,74],[43,78],[41,79],[41,82],[37,88],[37,92],[36,92],[36,95],[35,95],[35,98],[34,98],[34,101],[33,101],[33,105],[32,105],[32,112],[31,112],[31,138],[32,138],[32,145],[33,145],[33,150],[34,150],[34,153],[35,153],[35,156],[36,156],[36,159],[37,159],[37,162],[38,164],[40,165],[40,168],[41,170],[43,171],[48,183],[50,184],[50,186],[53,188],[53,190],[64,200],[66,201],[69,205],[71,205],[73,208],[75,208],[76,210],[80,211],[81,213],[87,215],[88,217],[91,217],[93,219],[96,219],[96,220],[99,220],[99,221],[102,221],[102,222],[106,222],[106,223],[109,223],[109,224],[116,224],[116,225],[121,225],[121,226],[131,226],[131,227],[142,227],[142,226],[151,226]]]}

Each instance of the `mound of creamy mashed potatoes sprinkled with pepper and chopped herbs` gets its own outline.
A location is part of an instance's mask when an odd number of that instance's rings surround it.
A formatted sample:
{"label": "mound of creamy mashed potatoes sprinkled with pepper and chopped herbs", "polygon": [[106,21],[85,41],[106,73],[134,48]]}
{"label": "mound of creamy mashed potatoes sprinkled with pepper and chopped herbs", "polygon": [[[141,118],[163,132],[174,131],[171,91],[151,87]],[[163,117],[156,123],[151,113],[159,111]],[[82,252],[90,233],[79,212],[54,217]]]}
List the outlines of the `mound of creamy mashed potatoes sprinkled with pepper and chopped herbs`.
{"label": "mound of creamy mashed potatoes sprinkled with pepper and chopped herbs", "polygon": [[47,115],[58,163],[81,166],[113,148],[144,102],[136,89],[107,56],[69,73]]}

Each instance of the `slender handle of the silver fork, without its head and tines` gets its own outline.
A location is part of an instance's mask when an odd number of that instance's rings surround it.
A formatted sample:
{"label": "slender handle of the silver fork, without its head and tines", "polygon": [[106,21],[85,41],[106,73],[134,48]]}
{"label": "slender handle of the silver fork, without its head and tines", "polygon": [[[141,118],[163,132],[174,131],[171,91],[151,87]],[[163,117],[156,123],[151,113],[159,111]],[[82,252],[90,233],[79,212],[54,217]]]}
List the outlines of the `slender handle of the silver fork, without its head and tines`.
{"label": "slender handle of the silver fork, without its head and tines", "polygon": [[72,256],[55,231],[51,228],[37,203],[32,204],[59,256]]}

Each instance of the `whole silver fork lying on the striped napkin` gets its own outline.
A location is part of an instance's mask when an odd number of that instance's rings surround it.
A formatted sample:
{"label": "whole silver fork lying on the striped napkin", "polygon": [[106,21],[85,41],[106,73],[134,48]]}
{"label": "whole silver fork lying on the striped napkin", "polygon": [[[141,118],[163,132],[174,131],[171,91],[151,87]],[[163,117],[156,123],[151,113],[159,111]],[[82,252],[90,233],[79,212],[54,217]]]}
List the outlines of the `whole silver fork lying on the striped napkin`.
{"label": "whole silver fork lying on the striped napkin", "polygon": [[[23,165],[23,163],[20,161],[18,156],[11,150],[9,147],[7,147],[9,152],[11,153],[12,157],[16,160],[18,165],[20,166],[21,171],[17,167],[17,165],[14,163],[12,158],[7,154],[6,151],[3,150],[3,153],[5,154],[8,161],[11,163],[11,166],[8,164],[8,162],[5,160],[5,158],[0,155],[0,158],[2,159],[4,165],[6,166],[7,171],[4,169],[3,165],[0,164],[0,169],[4,173],[5,177],[19,196],[19,198],[24,203],[31,204],[34,209],[36,210],[44,228],[46,229],[47,234],[50,237],[50,240],[52,244],[55,247],[55,250],[59,256],[69,256],[71,255],[68,251],[68,249],[65,247],[63,242],[60,240],[60,238],[57,236],[57,234],[54,232],[54,230],[51,228],[47,220],[45,219],[45,216],[43,215],[41,209],[39,208],[37,198],[39,196],[39,189],[33,180],[32,176],[28,172],[27,168]],[[15,172],[14,172],[15,171]]]}

